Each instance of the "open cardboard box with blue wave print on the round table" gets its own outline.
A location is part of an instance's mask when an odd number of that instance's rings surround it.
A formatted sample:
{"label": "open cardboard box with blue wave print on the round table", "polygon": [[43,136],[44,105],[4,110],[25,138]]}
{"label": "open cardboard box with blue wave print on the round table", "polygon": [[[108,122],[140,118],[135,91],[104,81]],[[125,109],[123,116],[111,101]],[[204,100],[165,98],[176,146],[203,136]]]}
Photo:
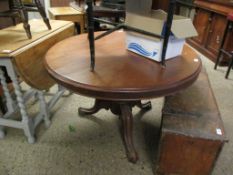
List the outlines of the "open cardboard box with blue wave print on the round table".
{"label": "open cardboard box with blue wave print on the round table", "polygon": [[[126,25],[138,28],[150,33],[163,35],[167,14],[163,10],[154,10],[147,16],[127,13]],[[174,58],[182,53],[185,39],[197,36],[191,19],[174,15],[169,38],[166,60]],[[161,61],[163,40],[148,37],[135,32],[126,32],[127,49],[152,60]]]}

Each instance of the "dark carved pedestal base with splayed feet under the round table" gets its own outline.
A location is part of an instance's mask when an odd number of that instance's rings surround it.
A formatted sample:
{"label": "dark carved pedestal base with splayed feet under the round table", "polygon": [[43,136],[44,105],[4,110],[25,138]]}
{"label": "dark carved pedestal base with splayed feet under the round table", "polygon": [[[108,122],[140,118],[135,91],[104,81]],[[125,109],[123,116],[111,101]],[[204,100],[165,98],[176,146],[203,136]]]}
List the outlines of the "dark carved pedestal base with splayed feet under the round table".
{"label": "dark carved pedestal base with splayed feet under the round table", "polygon": [[136,163],[138,160],[138,154],[133,144],[133,116],[132,108],[138,106],[142,110],[150,110],[151,102],[142,104],[141,101],[119,102],[119,101],[107,101],[96,99],[92,108],[79,108],[79,114],[92,115],[98,112],[100,109],[111,110],[115,115],[119,115],[122,122],[122,138],[125,144],[126,154],[128,160],[132,163]]}

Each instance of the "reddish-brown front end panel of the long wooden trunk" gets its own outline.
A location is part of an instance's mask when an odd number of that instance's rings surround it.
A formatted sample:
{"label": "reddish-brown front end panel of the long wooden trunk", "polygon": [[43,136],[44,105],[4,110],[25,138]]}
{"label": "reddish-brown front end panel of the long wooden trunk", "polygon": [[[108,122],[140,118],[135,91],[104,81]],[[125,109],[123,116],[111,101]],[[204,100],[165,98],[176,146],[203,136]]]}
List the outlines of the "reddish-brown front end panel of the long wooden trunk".
{"label": "reddish-brown front end panel of the long wooden trunk", "polygon": [[159,175],[208,175],[222,143],[174,133],[162,135]]}

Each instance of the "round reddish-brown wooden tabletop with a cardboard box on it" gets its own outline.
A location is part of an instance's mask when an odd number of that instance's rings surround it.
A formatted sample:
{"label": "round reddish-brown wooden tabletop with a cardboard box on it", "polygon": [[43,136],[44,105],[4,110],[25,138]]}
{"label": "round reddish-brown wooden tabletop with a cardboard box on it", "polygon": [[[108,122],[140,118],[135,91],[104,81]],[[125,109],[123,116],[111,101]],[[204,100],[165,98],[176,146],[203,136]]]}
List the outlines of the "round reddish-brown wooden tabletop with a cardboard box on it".
{"label": "round reddish-brown wooden tabletop with a cardboard box on it", "polygon": [[95,42],[96,66],[90,71],[87,35],[54,45],[46,54],[49,74],[66,88],[89,97],[131,101],[166,96],[190,86],[201,60],[188,46],[182,56],[161,64],[126,50],[125,33],[117,31]]}

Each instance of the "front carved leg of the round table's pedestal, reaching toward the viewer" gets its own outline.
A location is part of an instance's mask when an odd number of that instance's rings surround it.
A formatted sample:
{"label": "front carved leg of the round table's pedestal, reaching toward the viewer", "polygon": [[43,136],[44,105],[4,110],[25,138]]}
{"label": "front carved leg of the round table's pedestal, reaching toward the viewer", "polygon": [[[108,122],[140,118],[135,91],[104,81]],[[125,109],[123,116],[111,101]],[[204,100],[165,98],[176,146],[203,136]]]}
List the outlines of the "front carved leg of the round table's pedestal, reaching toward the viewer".
{"label": "front carved leg of the round table's pedestal, reaching toward the viewer", "polygon": [[121,109],[121,121],[123,129],[123,141],[125,143],[126,154],[130,162],[136,163],[138,160],[138,154],[133,144],[133,117],[132,109],[128,104],[120,104]]}

